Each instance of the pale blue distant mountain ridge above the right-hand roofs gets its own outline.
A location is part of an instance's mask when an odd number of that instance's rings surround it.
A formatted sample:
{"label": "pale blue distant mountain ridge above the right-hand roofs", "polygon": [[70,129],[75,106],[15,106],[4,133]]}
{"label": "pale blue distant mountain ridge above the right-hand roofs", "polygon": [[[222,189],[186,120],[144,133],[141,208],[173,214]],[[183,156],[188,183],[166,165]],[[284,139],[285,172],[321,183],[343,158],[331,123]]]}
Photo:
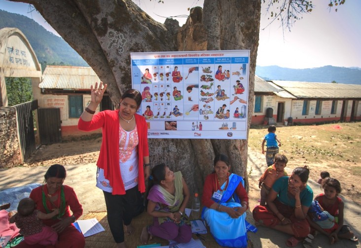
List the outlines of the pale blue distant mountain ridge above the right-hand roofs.
{"label": "pale blue distant mountain ridge above the right-hand roofs", "polygon": [[290,69],[279,66],[256,66],[256,75],[264,80],[285,80],[317,83],[361,84],[361,68],[323,66],[308,69]]}

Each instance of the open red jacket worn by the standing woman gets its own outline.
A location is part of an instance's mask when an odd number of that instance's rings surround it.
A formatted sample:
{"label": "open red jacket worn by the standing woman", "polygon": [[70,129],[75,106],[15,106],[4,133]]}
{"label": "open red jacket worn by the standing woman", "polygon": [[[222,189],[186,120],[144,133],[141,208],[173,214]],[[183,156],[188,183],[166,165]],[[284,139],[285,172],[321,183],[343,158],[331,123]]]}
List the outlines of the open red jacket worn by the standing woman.
{"label": "open red jacket worn by the standing woman", "polygon": [[[143,116],[135,114],[138,129],[138,189],[145,192],[143,158],[149,156],[148,128]],[[125,195],[125,188],[119,168],[119,110],[105,110],[93,116],[90,122],[79,118],[78,128],[93,131],[102,128],[103,140],[97,166],[104,169],[104,176],[113,188],[112,195]]]}

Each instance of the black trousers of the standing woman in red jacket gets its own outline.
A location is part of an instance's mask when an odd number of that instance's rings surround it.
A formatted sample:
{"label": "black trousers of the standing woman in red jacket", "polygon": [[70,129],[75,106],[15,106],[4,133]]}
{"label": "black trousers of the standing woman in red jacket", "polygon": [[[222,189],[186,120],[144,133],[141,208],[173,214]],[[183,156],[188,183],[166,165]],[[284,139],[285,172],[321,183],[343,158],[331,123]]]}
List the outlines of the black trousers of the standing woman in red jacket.
{"label": "black trousers of the standing woman in red jacket", "polygon": [[125,191],[125,195],[112,195],[103,191],[107,205],[108,224],[115,243],[124,242],[124,227],[133,217],[144,211],[142,194],[138,185]]}

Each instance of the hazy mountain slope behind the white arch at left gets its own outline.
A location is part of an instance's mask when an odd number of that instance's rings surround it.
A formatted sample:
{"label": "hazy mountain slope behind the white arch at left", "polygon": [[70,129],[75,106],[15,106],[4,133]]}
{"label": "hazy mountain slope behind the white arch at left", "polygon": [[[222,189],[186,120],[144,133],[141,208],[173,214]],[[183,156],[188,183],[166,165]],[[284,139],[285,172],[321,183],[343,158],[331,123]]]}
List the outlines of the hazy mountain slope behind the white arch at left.
{"label": "hazy mountain slope behind the white arch at left", "polygon": [[2,28],[20,29],[33,47],[40,64],[88,66],[66,41],[24,15],[9,13],[0,9],[0,29]]}

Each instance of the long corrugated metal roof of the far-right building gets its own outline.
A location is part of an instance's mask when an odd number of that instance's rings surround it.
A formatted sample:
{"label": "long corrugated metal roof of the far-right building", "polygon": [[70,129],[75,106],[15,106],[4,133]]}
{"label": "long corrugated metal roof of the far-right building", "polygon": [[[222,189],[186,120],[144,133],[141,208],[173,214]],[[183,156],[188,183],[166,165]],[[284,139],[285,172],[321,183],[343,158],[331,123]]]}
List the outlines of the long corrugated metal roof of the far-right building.
{"label": "long corrugated metal roof of the far-right building", "polygon": [[306,83],[278,80],[272,82],[297,98],[361,98],[361,85],[358,84]]}

